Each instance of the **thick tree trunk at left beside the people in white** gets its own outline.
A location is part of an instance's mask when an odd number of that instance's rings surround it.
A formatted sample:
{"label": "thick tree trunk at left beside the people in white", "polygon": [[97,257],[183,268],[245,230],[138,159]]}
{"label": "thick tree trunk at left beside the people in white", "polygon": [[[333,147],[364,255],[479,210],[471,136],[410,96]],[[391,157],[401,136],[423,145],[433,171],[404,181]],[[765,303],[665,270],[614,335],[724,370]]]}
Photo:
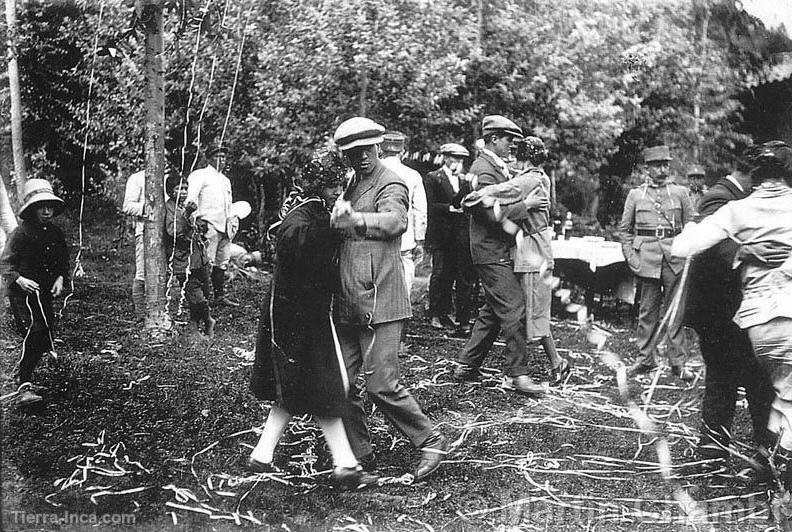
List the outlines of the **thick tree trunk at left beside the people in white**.
{"label": "thick tree trunk at left beside the people in white", "polygon": [[146,56],[146,225],[143,233],[146,277],[146,329],[158,336],[170,328],[165,303],[165,76],[162,51],[162,0],[142,0],[138,13],[145,25]]}

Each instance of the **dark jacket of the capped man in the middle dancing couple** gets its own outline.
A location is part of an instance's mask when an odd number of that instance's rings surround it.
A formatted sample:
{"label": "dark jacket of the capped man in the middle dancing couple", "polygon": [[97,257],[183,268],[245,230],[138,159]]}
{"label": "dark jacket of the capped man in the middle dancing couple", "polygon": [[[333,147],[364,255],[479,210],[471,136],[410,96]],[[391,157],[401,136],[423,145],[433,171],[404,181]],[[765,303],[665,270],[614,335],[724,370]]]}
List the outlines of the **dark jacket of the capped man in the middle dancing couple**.
{"label": "dark jacket of the capped man in the middle dancing couple", "polygon": [[[470,173],[477,178],[476,190],[509,180],[486,153],[479,155],[478,159],[473,162]],[[520,202],[518,207],[520,208],[515,208],[509,213],[509,219],[514,222],[528,217],[528,209],[525,204]],[[510,263],[509,250],[514,245],[514,235],[503,230],[503,225],[495,219],[492,209],[478,205],[471,210],[470,256],[473,259],[473,264]]]}

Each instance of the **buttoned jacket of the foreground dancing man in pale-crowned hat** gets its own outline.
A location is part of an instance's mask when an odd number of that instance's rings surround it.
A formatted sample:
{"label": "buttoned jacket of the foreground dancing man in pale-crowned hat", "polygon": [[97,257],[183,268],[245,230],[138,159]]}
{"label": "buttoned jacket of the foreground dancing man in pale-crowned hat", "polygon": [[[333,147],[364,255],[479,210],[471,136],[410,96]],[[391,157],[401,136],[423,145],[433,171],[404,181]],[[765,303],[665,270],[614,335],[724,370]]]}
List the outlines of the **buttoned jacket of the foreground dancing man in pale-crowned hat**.
{"label": "buttoned jacket of the foreground dancing man in pale-crowned hat", "polygon": [[344,199],[363,215],[365,225],[346,230],[339,251],[341,324],[375,325],[412,316],[401,235],[407,229],[407,186],[381,161],[371,175],[355,180]]}

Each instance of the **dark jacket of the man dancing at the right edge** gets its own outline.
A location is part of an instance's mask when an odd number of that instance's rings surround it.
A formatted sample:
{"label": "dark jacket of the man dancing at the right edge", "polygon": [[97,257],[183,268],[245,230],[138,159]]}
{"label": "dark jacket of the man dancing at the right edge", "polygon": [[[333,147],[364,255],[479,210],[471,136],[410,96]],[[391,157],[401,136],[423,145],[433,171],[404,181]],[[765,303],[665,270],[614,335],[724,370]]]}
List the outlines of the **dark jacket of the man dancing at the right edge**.
{"label": "dark jacket of the man dancing at the right edge", "polygon": [[[728,179],[720,179],[704,193],[699,202],[699,214],[706,218],[729,201],[747,194]],[[739,245],[732,240],[694,257],[690,264],[685,299],[685,325],[699,334],[717,334],[731,322],[742,300],[739,270],[732,269],[732,261]]]}

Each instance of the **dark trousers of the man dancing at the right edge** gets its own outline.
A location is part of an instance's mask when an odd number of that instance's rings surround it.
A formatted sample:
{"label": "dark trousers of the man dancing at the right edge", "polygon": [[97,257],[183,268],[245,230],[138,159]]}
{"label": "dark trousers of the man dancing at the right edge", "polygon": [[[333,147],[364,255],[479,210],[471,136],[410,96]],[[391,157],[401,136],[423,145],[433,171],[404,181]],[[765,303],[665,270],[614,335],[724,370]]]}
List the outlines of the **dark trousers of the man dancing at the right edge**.
{"label": "dark trousers of the man dancing at the right edge", "polygon": [[725,316],[724,323],[719,325],[701,327],[698,333],[701,356],[707,368],[699,446],[712,441],[729,445],[739,386],[745,388],[754,441],[768,445],[771,442],[767,421],[775,397],[773,383],[754,356],[748,334]]}

